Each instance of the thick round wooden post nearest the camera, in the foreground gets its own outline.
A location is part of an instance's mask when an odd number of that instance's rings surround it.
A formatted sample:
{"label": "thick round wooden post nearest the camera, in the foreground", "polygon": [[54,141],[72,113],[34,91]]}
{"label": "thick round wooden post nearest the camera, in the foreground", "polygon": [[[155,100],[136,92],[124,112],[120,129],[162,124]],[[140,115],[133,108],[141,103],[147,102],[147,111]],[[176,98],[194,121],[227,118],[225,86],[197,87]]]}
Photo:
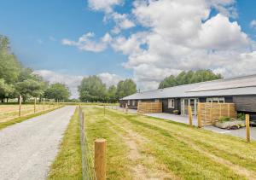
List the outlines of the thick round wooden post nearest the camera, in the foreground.
{"label": "thick round wooden post nearest the camera, in the foreground", "polygon": [[96,139],[94,167],[95,167],[97,180],[106,180],[106,166],[107,166],[106,151],[107,151],[107,141],[105,139]]}

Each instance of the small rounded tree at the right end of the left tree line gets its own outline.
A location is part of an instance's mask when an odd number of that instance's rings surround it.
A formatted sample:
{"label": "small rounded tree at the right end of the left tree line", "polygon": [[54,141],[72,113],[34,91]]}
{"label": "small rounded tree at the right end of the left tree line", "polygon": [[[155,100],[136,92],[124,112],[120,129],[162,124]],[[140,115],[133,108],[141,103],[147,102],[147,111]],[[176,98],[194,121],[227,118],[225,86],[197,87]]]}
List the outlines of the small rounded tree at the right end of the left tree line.
{"label": "small rounded tree at the right end of the left tree line", "polygon": [[50,84],[49,88],[44,91],[44,97],[48,99],[65,100],[70,96],[70,91],[65,84],[55,83]]}

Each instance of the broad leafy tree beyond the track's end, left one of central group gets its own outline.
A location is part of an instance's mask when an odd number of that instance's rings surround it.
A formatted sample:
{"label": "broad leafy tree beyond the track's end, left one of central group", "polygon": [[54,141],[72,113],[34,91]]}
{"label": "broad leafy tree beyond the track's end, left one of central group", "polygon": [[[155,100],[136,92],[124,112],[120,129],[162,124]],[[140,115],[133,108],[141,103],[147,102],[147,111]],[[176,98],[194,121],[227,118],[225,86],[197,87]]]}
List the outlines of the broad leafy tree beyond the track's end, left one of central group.
{"label": "broad leafy tree beyond the track's end, left one of central group", "polygon": [[97,76],[83,78],[79,85],[79,98],[82,102],[106,101],[106,93],[106,85]]}

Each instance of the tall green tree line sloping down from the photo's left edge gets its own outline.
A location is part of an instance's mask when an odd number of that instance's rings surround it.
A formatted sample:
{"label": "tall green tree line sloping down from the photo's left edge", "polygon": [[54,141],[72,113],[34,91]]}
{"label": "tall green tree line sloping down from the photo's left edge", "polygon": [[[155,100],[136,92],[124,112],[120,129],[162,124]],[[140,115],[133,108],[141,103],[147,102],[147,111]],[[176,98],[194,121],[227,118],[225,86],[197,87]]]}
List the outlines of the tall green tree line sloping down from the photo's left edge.
{"label": "tall green tree line sloping down from the photo's left edge", "polygon": [[0,35],[0,101],[22,96],[67,100],[70,92],[65,84],[49,84],[31,68],[23,67],[10,49],[9,38]]}

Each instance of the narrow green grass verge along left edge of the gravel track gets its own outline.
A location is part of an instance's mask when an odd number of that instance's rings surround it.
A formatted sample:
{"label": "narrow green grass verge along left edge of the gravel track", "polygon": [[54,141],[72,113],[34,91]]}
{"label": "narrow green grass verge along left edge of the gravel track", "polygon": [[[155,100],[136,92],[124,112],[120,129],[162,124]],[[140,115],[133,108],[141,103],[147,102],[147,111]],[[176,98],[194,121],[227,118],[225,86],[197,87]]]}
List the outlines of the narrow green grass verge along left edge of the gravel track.
{"label": "narrow green grass verge along left edge of the gravel track", "polygon": [[0,130],[5,128],[5,127],[8,127],[9,125],[15,125],[16,123],[20,123],[24,120],[27,120],[27,119],[32,119],[34,117],[37,117],[39,115],[42,115],[44,113],[49,113],[51,111],[54,111],[55,109],[57,108],[60,108],[60,107],[55,107],[55,108],[52,108],[52,109],[49,109],[49,110],[46,110],[44,112],[39,112],[39,113],[33,113],[33,114],[30,114],[30,115],[26,115],[26,116],[22,116],[20,118],[16,118],[16,119],[11,119],[9,121],[6,121],[6,122],[0,122]]}

